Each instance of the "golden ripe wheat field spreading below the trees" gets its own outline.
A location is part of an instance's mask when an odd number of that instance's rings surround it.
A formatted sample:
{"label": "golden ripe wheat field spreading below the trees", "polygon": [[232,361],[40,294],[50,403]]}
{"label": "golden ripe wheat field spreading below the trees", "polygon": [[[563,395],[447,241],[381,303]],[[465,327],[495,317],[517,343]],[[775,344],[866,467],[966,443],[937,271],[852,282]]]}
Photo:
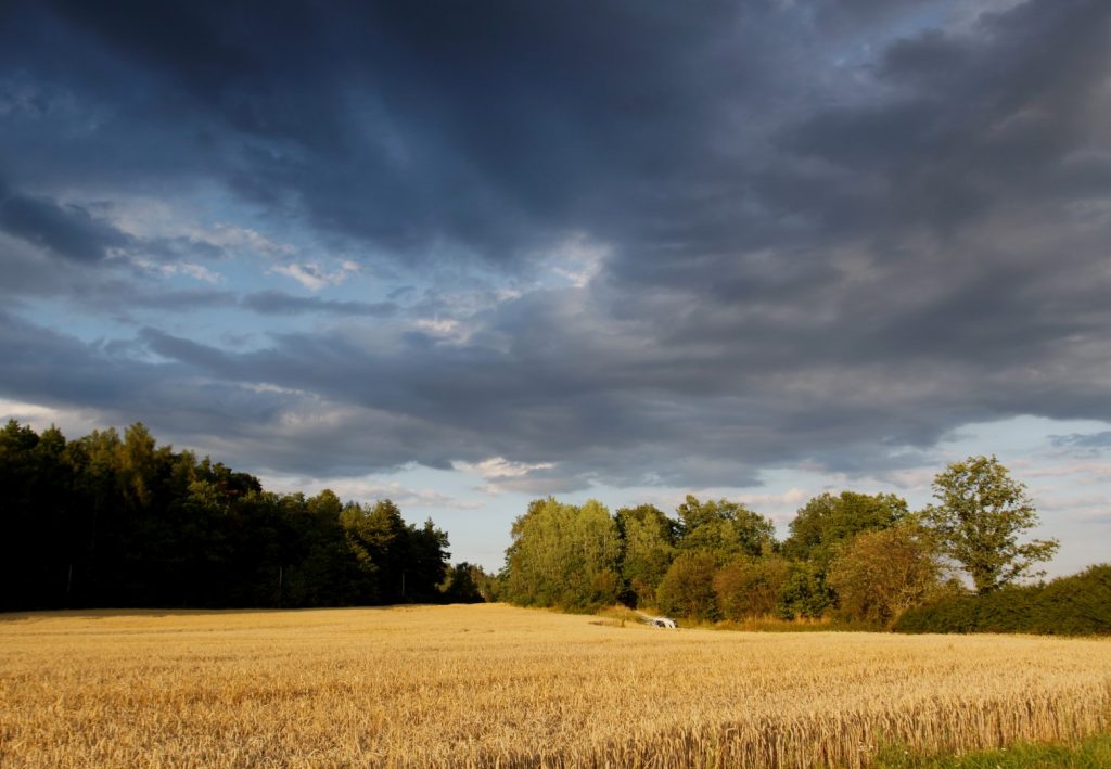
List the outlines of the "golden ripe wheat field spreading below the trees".
{"label": "golden ripe wheat field spreading below the trees", "polygon": [[1111,727],[1111,642],[504,606],[0,618],[0,765],[867,766]]}

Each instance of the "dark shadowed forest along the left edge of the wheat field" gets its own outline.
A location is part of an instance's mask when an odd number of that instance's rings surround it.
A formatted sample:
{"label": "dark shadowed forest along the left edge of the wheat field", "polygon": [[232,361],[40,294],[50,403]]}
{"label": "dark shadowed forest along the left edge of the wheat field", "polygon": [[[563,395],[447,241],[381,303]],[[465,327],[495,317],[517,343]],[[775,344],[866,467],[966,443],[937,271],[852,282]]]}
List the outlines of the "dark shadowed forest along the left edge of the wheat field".
{"label": "dark shadowed forest along the left edge of the wheat field", "polygon": [[0,430],[0,610],[481,600],[431,520],[331,491],[278,495],[142,425]]}

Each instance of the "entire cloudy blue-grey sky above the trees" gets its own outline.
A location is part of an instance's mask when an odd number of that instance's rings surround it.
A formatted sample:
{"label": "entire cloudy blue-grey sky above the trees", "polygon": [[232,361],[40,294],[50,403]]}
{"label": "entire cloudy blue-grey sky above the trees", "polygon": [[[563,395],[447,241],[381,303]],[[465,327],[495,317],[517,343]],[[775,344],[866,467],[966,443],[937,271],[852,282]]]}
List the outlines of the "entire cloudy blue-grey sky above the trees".
{"label": "entire cloudy blue-grey sky above the trees", "polygon": [[1105,0],[0,6],[0,418],[454,561],[970,455],[1111,560],[1109,248]]}

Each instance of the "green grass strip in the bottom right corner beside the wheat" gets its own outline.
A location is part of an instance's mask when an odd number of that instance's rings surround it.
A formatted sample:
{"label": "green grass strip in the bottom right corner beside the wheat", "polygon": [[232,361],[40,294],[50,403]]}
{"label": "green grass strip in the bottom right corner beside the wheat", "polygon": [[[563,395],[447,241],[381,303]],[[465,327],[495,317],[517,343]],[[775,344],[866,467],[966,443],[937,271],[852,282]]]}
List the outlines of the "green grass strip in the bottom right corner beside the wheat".
{"label": "green grass strip in the bottom right corner beside the wheat", "polygon": [[1017,742],[998,750],[977,750],[959,756],[915,756],[904,747],[890,746],[877,756],[881,769],[1107,769],[1111,767],[1111,733],[1077,742]]}

